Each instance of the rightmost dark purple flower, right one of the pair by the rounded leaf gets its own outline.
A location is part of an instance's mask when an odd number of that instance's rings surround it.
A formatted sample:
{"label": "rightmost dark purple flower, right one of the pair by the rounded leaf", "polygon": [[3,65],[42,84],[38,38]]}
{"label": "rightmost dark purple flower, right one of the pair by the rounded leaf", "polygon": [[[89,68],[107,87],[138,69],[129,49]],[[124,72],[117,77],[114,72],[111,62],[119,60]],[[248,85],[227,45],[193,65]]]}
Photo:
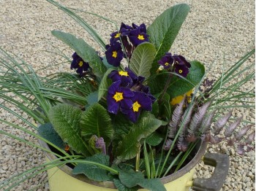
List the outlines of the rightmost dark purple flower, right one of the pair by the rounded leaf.
{"label": "rightmost dark purple flower, right one of the pair by the rounded leaf", "polygon": [[187,77],[191,64],[182,55],[173,55],[173,60],[175,72],[183,77]]}

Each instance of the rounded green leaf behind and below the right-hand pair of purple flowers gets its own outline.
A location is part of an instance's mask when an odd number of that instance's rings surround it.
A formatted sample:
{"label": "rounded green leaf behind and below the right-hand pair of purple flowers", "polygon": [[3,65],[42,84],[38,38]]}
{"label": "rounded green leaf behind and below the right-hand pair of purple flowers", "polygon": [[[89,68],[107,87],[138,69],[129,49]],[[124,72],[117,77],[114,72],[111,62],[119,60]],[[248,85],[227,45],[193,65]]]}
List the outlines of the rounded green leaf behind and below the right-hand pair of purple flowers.
{"label": "rounded green leaf behind and below the right-hand pair of purple flowers", "polygon": [[205,74],[205,67],[202,63],[198,61],[192,61],[191,68],[189,69],[189,74],[187,74],[187,80],[181,79],[180,77],[173,76],[173,79],[170,81],[170,86],[167,88],[167,93],[170,95],[171,98],[176,98],[178,95],[184,95],[189,90],[194,88],[194,85],[197,85],[203,75]]}

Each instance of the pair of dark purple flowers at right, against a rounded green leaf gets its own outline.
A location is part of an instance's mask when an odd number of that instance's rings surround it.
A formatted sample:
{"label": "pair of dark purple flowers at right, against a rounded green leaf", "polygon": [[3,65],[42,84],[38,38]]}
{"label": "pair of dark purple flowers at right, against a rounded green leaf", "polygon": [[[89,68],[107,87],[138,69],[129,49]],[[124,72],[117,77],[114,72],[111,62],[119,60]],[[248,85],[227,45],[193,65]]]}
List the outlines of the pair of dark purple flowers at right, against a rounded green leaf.
{"label": "pair of dark purple flowers at right, against a rounded green leaf", "polygon": [[165,55],[158,61],[160,69],[175,71],[182,77],[187,77],[191,64],[182,55],[172,55],[166,52]]}

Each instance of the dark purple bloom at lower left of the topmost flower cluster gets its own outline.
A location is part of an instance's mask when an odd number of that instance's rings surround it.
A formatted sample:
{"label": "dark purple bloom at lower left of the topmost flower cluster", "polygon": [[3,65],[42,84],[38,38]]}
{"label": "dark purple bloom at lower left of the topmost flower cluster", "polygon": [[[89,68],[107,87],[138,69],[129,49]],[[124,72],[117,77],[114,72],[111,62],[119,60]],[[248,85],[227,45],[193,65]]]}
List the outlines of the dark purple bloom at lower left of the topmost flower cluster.
{"label": "dark purple bloom at lower left of the topmost flower cluster", "polygon": [[106,46],[107,51],[105,52],[107,61],[113,66],[120,66],[120,62],[124,57],[124,52],[121,50],[121,43],[116,42]]}

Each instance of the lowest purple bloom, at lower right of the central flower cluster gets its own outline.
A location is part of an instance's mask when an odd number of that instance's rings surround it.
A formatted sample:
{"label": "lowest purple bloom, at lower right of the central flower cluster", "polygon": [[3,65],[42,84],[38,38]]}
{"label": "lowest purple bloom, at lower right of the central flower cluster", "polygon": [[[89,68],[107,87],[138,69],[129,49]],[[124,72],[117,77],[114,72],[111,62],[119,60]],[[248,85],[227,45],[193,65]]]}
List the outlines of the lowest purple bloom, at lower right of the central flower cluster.
{"label": "lowest purple bloom, at lower right of the central flower cluster", "polygon": [[141,110],[151,111],[152,102],[151,98],[148,98],[146,93],[134,92],[134,96],[131,98],[132,107],[130,109],[121,108],[121,112],[127,115],[129,120],[136,122],[140,116]]}

